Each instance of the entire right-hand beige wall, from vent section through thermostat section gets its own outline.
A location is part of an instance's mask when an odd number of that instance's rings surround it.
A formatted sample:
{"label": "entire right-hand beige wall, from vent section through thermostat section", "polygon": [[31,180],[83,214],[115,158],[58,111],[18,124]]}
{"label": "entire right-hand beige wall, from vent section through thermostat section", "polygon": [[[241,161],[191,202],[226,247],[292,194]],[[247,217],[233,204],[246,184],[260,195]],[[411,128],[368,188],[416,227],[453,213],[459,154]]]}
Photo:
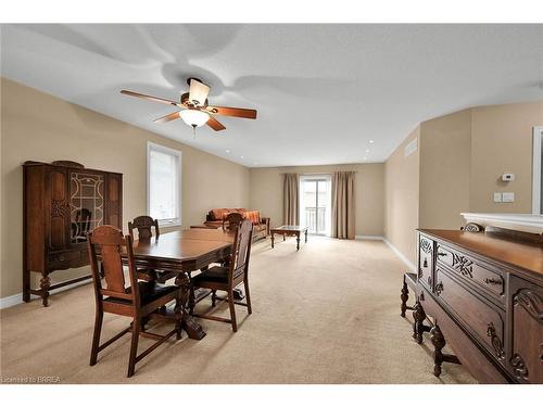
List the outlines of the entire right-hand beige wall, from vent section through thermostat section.
{"label": "entire right-hand beige wall, from vent section through thermostat section", "polygon": [[[457,229],[462,212],[530,213],[532,128],[542,125],[543,102],[473,107],[422,122],[384,166],[386,238],[415,262],[417,227]],[[419,156],[403,157],[417,135]],[[505,171],[515,181],[502,182]],[[493,203],[493,192],[515,192],[515,203]]]}

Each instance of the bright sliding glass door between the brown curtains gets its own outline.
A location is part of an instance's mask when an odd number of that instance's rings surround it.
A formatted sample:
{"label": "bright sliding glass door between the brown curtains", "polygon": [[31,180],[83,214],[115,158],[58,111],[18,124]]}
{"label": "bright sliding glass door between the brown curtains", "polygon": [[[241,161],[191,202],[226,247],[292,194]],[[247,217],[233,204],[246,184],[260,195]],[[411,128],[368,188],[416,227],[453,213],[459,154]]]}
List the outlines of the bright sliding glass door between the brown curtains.
{"label": "bright sliding glass door between the brown curtains", "polygon": [[300,221],[312,234],[330,233],[330,177],[300,178]]}

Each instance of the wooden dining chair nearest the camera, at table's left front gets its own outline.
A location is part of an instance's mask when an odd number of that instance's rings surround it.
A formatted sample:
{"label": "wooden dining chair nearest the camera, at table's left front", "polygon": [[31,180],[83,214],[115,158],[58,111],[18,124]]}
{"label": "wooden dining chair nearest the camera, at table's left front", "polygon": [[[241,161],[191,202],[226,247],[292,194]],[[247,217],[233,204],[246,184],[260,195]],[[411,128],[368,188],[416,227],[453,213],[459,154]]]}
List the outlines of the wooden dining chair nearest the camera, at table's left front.
{"label": "wooden dining chair nearest the camera, at table's left front", "polygon": [[[176,318],[175,328],[165,335],[159,335],[146,331],[144,322],[152,318],[153,314],[171,301],[180,301],[180,291],[176,285],[165,285],[156,281],[138,281],[137,270],[134,262],[132,239],[129,234],[123,238],[123,232],[113,226],[99,226],[88,234],[88,251],[96,298],[96,320],[92,335],[92,347],[90,352],[90,366],[94,366],[98,353],[131,332],[130,355],[128,359],[128,378],[134,374],[136,364],[152,351],[164,343],[168,338],[177,333],[181,338],[180,318]],[[128,262],[128,276],[130,285],[125,287],[125,274],[123,269],[123,252],[126,253]],[[99,260],[103,265],[104,284],[99,274]],[[102,321],[104,313],[131,317],[131,325],[117,333],[110,340],[100,344]],[[137,355],[139,336],[146,336],[157,342]]]}

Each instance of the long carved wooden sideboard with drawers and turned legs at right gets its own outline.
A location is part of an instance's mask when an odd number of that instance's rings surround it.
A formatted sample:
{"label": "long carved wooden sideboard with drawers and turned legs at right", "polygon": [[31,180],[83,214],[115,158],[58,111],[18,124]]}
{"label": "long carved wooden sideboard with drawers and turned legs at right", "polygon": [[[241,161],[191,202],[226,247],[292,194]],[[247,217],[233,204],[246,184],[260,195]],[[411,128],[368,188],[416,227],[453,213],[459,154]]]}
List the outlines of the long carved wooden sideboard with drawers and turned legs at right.
{"label": "long carved wooden sideboard with drawers and turned legs at right", "polygon": [[538,236],[421,229],[417,250],[414,317],[418,326],[426,316],[434,319],[434,373],[447,361],[441,354],[446,341],[482,383],[543,383]]}

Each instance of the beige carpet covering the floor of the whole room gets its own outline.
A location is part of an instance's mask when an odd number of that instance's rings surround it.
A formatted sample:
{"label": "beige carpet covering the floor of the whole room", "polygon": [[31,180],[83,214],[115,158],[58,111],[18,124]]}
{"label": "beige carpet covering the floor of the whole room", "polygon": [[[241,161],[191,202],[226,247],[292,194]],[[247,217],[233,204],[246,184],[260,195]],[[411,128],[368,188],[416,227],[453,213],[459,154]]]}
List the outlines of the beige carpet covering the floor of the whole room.
{"label": "beige carpet covering the floor of the whole room", "polygon": [[[94,303],[91,285],[83,285],[53,295],[49,308],[34,301],[1,311],[1,377],[59,377],[62,383],[473,383],[454,365],[433,377],[429,338],[417,345],[411,315],[400,317],[404,270],[379,241],[310,237],[298,253],[293,239],[274,250],[257,243],[250,269],[253,314],[237,307],[239,331],[203,320],[202,341],[184,334],[162,345],[131,379],[129,335],[88,365]],[[226,315],[225,304],[219,309]],[[106,315],[103,338],[127,323]]]}

